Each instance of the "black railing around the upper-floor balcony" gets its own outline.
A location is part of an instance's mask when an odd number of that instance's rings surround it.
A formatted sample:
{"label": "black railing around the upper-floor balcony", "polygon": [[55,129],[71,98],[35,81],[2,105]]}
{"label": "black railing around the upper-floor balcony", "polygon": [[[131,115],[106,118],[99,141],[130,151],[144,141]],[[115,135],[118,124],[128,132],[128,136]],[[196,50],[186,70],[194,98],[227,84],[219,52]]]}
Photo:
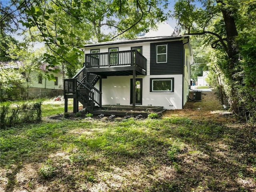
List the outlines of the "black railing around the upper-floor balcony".
{"label": "black railing around the upper-floor balcony", "polygon": [[91,53],[85,56],[86,68],[138,66],[146,71],[147,59],[137,50]]}

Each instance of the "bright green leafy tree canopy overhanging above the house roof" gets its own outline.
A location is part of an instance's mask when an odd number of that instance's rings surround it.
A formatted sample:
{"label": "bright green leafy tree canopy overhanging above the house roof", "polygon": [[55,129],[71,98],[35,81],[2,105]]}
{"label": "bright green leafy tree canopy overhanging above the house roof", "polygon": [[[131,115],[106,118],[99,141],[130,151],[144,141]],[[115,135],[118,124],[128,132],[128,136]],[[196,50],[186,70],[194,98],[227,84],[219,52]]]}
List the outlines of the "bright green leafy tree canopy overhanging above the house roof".
{"label": "bright green leafy tree canopy overhanging above the house roof", "polygon": [[166,8],[167,0],[14,0],[2,8],[5,11],[0,22],[9,22],[15,13],[14,18],[27,28],[32,42],[46,44],[44,62],[49,67],[76,68],[83,54],[78,46],[146,31],[157,21],[166,20],[160,5]]}

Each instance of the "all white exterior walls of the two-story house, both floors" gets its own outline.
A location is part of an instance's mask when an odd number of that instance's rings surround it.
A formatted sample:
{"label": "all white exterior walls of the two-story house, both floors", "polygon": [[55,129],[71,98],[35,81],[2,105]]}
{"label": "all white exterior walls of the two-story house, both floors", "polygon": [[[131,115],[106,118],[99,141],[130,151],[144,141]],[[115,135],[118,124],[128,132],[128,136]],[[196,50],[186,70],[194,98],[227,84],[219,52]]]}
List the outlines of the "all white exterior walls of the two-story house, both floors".
{"label": "all white exterior walls of the two-story house, both floors", "polygon": [[[164,41],[165,42],[165,41]],[[186,43],[184,40],[183,43]],[[89,54],[90,49],[100,49],[100,53],[108,52],[108,48],[118,47],[119,51],[131,50],[131,47],[142,46],[142,55],[147,59],[147,75],[138,75],[136,78],[142,78],[142,105],[143,106],[163,106],[165,109],[182,109],[187,101],[188,86],[190,85],[190,64],[193,58],[190,56],[188,45],[185,46],[184,73],[178,75],[149,75],[150,74],[150,42],[129,43],[107,46],[94,46],[85,48],[85,53]],[[182,50],[181,50],[182,51]],[[186,63],[186,56],[188,62]],[[130,105],[130,79],[132,76],[108,76],[102,79],[102,105],[120,104]],[[174,78],[174,92],[150,92],[150,78]],[[183,84],[182,84],[183,82]],[[99,82],[95,85],[99,89]],[[184,88],[182,90],[182,87]],[[183,96],[183,103],[182,103]]]}

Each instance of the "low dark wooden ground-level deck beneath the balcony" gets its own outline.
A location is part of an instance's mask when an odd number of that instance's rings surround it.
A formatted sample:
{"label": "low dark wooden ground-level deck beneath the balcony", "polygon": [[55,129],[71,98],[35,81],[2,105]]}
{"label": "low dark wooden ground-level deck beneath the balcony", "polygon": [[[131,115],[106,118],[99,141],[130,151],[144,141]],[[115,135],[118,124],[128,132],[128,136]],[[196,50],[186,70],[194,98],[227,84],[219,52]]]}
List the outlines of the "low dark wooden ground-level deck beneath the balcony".
{"label": "low dark wooden ground-level deck beneath the balcony", "polygon": [[142,115],[147,117],[150,113],[156,113],[161,115],[162,112],[166,111],[161,106],[132,106],[127,105],[103,105],[101,108],[93,111],[95,115],[115,115],[115,116],[138,116]]}

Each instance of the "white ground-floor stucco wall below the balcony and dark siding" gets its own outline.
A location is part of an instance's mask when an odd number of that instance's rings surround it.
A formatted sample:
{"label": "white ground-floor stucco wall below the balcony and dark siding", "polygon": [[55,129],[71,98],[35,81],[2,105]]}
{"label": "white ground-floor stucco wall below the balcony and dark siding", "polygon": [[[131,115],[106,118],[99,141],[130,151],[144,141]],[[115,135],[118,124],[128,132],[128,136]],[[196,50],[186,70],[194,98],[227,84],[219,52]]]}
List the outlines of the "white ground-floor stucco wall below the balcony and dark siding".
{"label": "white ground-floor stucco wall below the balcony and dark siding", "polygon": [[[182,75],[148,75],[142,78],[142,105],[182,109]],[[174,92],[150,92],[150,78],[174,78]],[[108,76],[102,79],[102,105],[130,105],[130,79],[132,76]],[[99,88],[99,82],[95,86]]]}

